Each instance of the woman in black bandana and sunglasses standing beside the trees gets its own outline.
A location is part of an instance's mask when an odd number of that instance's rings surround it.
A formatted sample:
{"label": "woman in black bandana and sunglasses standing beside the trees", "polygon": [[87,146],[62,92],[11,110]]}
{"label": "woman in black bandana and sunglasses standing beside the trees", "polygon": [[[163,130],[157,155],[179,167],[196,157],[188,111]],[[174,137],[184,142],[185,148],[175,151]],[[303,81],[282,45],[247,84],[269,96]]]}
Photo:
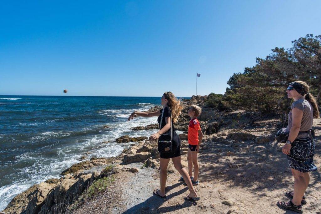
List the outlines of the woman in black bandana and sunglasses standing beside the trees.
{"label": "woman in black bandana and sunglasses standing beside the trees", "polygon": [[304,193],[308,187],[309,172],[317,171],[313,163],[314,141],[310,132],[313,118],[319,117],[317,102],[309,93],[309,86],[303,81],[291,82],[286,90],[288,98],[294,102],[288,115],[289,124],[286,133],[288,140],[282,148],[287,155],[291,172],[294,177],[293,192],[287,192],[286,196],[291,199],[288,202],[278,201],[277,206],[302,213],[302,204],[306,204]]}

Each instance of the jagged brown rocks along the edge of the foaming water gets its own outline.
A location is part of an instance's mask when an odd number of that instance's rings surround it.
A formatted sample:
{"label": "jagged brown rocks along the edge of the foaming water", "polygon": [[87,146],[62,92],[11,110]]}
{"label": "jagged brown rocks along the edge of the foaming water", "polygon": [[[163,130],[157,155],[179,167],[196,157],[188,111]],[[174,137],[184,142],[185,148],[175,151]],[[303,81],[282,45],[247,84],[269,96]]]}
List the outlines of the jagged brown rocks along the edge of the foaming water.
{"label": "jagged brown rocks along the edge of the foaming water", "polygon": [[[204,101],[204,98],[206,98],[206,96],[192,97],[192,99],[187,103],[185,102],[185,104],[200,104]],[[146,112],[156,111],[160,108],[160,106],[155,106]],[[203,114],[206,115],[208,112]],[[189,117],[187,116],[187,109],[184,108],[178,123],[175,124],[176,130],[187,133],[188,122]],[[217,128],[217,124],[210,124],[208,128],[208,126],[202,122],[202,129],[204,132],[216,132]],[[158,124],[132,128],[132,130],[149,129],[158,129]],[[185,145],[185,148],[182,148],[183,154],[186,154],[188,150],[187,142],[184,141],[187,140],[186,133],[180,135],[183,140],[182,145]],[[26,191],[15,196],[2,213],[44,214],[57,213],[58,210],[64,213],[78,201],[79,196],[88,189],[92,183],[103,177],[105,167],[113,166],[113,170],[116,171],[117,169],[126,169],[132,172],[136,171],[136,169],[126,168],[124,165],[143,162],[147,167],[158,167],[159,152],[157,151],[157,145],[155,142],[149,142],[146,139],[147,137],[132,138],[128,135],[115,139],[117,143],[133,142],[133,144],[130,148],[123,150],[117,157],[91,158],[89,160],[84,160],[65,169],[60,174],[62,177],[59,179],[48,179],[40,184],[31,186]],[[81,160],[86,158],[86,156],[83,156],[81,157]]]}

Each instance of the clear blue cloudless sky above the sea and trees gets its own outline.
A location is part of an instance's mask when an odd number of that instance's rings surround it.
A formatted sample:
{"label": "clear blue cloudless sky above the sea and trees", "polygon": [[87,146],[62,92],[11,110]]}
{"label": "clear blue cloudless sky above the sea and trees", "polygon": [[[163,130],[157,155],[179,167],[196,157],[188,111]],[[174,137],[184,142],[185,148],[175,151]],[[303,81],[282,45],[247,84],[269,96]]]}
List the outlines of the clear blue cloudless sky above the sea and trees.
{"label": "clear blue cloudless sky above the sea and trees", "polygon": [[0,95],[224,93],[274,47],[321,34],[320,1],[5,1]]}

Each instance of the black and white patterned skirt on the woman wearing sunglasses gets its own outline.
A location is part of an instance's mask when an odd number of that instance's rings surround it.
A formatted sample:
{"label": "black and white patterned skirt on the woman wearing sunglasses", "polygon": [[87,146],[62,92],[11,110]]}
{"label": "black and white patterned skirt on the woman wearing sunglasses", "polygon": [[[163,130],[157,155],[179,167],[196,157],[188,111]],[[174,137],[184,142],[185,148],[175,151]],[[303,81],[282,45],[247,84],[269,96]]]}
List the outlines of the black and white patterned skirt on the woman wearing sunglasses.
{"label": "black and white patterned skirt on the woman wearing sunglasses", "polygon": [[313,163],[314,150],[314,141],[310,137],[295,139],[290,154],[287,155],[290,167],[300,172],[317,171],[317,166]]}

